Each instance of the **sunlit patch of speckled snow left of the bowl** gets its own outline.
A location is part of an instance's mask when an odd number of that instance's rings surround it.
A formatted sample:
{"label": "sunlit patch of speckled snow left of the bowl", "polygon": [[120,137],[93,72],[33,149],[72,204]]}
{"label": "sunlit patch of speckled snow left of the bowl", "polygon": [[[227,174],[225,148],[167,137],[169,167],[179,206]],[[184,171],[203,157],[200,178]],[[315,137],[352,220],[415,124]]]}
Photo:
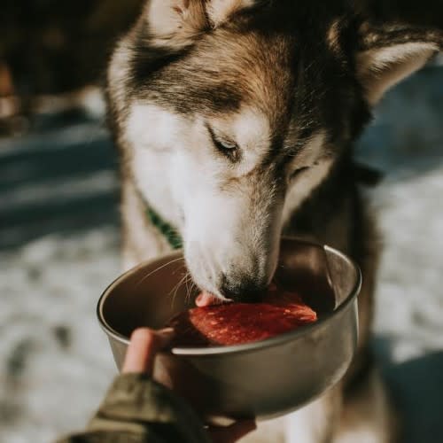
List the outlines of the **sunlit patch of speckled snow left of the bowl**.
{"label": "sunlit patch of speckled snow left of the bowl", "polygon": [[113,377],[95,307],[119,273],[113,227],[45,236],[0,255],[3,441],[82,428]]}

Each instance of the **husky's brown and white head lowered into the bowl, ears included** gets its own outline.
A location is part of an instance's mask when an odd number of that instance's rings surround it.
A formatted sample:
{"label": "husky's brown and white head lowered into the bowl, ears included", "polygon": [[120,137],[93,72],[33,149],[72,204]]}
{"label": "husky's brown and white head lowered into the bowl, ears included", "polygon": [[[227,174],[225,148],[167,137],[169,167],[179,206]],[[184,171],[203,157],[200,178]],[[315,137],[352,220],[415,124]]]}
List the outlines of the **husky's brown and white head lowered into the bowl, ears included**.
{"label": "husky's brown and white head lowered into the bowl, ears included", "polygon": [[111,115],[144,198],[183,237],[195,282],[248,297],[284,221],[386,89],[440,35],[319,2],[151,0],[109,68]]}

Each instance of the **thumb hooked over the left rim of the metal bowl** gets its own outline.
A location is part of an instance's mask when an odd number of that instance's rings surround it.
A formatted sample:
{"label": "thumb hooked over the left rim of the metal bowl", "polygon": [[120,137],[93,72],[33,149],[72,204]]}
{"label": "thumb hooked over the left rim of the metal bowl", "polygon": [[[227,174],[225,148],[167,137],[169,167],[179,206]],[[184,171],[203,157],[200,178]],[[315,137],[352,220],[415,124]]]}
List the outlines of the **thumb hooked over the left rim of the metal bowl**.
{"label": "thumb hooked over the left rim of the metal bowl", "polygon": [[130,339],[125,356],[123,373],[144,372],[152,375],[155,355],[167,346],[174,334],[174,330],[154,331],[148,328],[135,330]]}

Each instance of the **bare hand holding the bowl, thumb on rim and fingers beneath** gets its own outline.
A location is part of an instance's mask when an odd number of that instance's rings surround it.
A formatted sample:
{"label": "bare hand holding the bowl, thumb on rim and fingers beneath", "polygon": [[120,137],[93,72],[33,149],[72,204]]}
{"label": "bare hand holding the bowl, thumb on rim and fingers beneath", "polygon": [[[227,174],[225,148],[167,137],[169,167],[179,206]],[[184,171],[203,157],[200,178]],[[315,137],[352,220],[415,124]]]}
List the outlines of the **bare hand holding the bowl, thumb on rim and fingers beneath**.
{"label": "bare hand holding the bowl, thumb on rim and fingers beneath", "polygon": [[[151,376],[156,354],[168,346],[173,336],[172,328],[135,330],[131,335],[121,371],[123,373],[144,372]],[[207,431],[214,443],[235,443],[255,428],[253,420],[245,420],[229,426],[207,426]]]}

